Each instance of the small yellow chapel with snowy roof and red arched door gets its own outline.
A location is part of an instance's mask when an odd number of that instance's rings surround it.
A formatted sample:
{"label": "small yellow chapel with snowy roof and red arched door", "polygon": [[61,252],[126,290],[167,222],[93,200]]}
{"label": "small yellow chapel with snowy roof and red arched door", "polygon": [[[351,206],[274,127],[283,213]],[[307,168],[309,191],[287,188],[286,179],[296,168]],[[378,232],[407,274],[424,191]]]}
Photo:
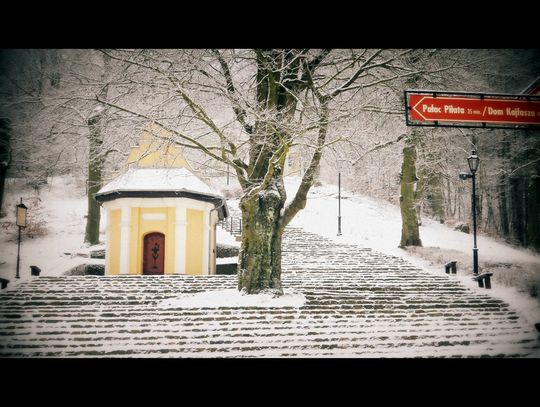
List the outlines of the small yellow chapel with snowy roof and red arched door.
{"label": "small yellow chapel with snowy roof and red arched door", "polygon": [[163,129],[145,129],[124,173],[95,199],[107,215],[106,275],[215,274],[225,199],[193,174]]}

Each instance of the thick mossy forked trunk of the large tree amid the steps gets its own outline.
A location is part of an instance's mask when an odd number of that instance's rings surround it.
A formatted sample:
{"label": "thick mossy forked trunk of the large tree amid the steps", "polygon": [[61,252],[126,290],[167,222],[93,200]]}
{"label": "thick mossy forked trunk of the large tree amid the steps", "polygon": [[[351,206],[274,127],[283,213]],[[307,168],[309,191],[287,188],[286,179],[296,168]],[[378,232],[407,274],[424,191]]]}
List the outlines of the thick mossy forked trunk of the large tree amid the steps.
{"label": "thick mossy forked trunk of the large tree amid the steps", "polygon": [[[295,198],[287,208],[283,168],[292,134],[286,130],[294,118],[296,91],[287,88],[298,77],[300,60],[280,51],[257,51],[257,106],[275,121],[258,121],[250,135],[248,180],[243,182],[242,245],[238,289],[248,294],[270,291],[283,294],[281,241],[285,226],[306,204],[307,192],[319,166],[321,151],[313,154]],[[295,86],[295,85],[293,85]],[[322,148],[328,126],[328,101],[321,104],[318,146]],[[241,182],[242,183],[242,182]]]}

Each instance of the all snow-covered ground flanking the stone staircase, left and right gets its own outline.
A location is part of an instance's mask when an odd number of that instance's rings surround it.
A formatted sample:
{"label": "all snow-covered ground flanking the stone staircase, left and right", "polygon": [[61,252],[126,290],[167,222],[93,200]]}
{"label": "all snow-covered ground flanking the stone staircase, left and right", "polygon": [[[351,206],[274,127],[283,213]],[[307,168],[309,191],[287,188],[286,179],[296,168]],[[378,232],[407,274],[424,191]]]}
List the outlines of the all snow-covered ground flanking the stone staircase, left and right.
{"label": "all snow-covered ground flanking the stone staircase, left and right", "polygon": [[[289,199],[294,196],[293,193],[298,185],[298,178],[286,180]],[[0,219],[0,223],[13,222],[14,213],[11,212],[14,211],[10,211],[9,208],[15,207],[20,196],[23,197],[24,201],[36,196],[34,190],[21,189],[20,184],[13,180],[8,182],[6,193],[5,208],[8,216]],[[432,259],[426,260],[415,255],[412,251],[397,247],[401,236],[399,207],[352,195],[343,189],[341,195],[341,236],[337,236],[338,201],[337,186],[335,185],[312,188],[306,208],[299,212],[292,225],[303,227],[335,242],[354,243],[386,254],[403,257],[415,266],[436,274],[444,273],[440,262]],[[73,254],[89,252],[88,246],[83,242],[86,213],[84,189],[71,178],[58,177],[50,180],[50,185],[41,189],[39,198],[43,208],[43,217],[47,222],[48,233],[43,237],[23,241],[20,264],[21,280],[30,278],[31,265],[40,267],[43,276],[55,276],[62,275],[65,271],[82,263],[103,262],[103,260],[73,256]],[[237,208],[237,203],[235,200],[228,201],[231,208]],[[102,225],[105,222],[106,219],[103,217]],[[461,253],[463,259],[472,257],[472,235],[454,231],[438,222],[424,219],[423,226],[420,228],[420,237],[425,248],[433,248],[434,252],[442,253],[441,256],[445,255],[445,251],[452,251],[452,253]],[[104,236],[102,238],[104,239]],[[2,229],[0,277],[9,279],[11,285],[17,281],[14,279],[17,243],[6,239],[7,235]],[[218,243],[238,245],[238,242],[221,228],[218,228],[217,241]],[[482,235],[478,237],[478,248],[481,266],[484,259],[489,259],[490,262],[502,264],[521,264],[529,271],[540,273],[540,255],[531,251],[514,248]],[[446,261],[448,260],[453,259],[446,259]],[[483,290],[471,280],[470,275],[465,272],[464,266],[458,264],[456,278],[468,287]],[[503,269],[498,269],[497,272],[503,272]],[[483,292],[487,291],[483,290]],[[515,287],[500,284],[493,284],[489,293],[520,310],[530,322],[540,322],[540,303],[528,296],[527,293],[520,292]]]}

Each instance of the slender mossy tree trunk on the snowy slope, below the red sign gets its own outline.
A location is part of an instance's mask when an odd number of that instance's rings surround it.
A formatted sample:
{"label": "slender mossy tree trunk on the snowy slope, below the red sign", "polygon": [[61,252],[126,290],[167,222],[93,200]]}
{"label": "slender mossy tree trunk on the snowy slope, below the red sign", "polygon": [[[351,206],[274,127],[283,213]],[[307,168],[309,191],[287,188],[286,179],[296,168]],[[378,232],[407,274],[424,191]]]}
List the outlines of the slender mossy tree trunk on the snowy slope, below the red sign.
{"label": "slender mossy tree trunk on the snowy slope, below the red sign", "polygon": [[406,145],[403,148],[403,165],[401,167],[401,242],[399,247],[422,246],[416,216],[416,199],[414,184],[416,183],[416,147]]}

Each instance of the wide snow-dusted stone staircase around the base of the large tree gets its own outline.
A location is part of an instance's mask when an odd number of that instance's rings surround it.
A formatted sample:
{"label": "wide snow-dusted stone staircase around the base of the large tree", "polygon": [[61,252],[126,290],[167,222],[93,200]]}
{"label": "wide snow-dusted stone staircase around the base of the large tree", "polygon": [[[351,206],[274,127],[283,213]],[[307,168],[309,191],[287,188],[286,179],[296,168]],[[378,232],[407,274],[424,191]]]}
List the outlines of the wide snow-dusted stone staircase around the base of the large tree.
{"label": "wide snow-dusted stone staircase around the base of the large tree", "polygon": [[540,356],[532,324],[451,276],[297,228],[283,247],[303,307],[159,306],[235,276],[37,277],[0,293],[0,356]]}

